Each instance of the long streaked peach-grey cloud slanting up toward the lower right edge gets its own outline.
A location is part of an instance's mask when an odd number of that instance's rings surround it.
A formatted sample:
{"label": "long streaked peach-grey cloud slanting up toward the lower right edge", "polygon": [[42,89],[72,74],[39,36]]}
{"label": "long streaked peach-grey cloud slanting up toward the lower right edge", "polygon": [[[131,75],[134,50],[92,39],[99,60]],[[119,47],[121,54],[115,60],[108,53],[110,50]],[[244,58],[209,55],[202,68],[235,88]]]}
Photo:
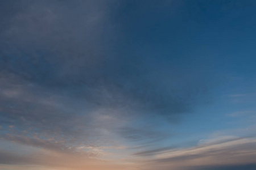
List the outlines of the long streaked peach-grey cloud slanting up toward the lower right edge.
{"label": "long streaked peach-grey cloud slanting up toward the lower right edge", "polygon": [[[154,162],[156,167],[160,166],[163,169],[168,169],[167,167],[174,169],[193,169],[196,167],[200,169],[200,166],[209,169],[219,166],[221,169],[225,166],[236,167],[236,165],[242,167],[243,165],[255,164],[255,144],[255,138],[222,137],[196,147],[167,148],[166,150],[160,148],[151,153],[150,159],[144,159],[144,161],[147,163]],[[137,156],[144,155],[137,154]],[[152,168],[156,168],[154,163],[151,164]]]}

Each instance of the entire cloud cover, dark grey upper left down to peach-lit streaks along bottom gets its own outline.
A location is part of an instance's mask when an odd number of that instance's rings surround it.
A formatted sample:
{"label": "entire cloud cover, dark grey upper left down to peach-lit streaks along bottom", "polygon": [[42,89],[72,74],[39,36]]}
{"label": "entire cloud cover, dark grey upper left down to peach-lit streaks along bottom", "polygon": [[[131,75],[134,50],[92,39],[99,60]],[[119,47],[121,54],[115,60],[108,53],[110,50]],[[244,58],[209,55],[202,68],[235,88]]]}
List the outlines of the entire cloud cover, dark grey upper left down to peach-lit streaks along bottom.
{"label": "entire cloud cover, dark grey upper left down to peach-lit streaks along bottom", "polygon": [[177,52],[177,24],[159,31],[159,18],[187,17],[180,3],[147,3],[0,2],[0,168],[254,166],[254,138],[169,145],[217,83],[187,45]]}

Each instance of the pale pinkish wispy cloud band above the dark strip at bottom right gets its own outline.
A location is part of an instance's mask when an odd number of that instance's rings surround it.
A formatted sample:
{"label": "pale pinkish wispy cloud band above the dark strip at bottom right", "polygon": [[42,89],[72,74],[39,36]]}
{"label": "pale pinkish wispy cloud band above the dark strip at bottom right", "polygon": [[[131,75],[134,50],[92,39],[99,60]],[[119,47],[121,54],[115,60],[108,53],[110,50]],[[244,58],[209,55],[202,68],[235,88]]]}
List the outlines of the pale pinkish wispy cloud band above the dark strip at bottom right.
{"label": "pale pinkish wispy cloud band above the dark strip at bottom right", "polygon": [[[183,167],[189,166],[189,163],[193,165],[195,162],[201,162],[201,165],[206,167],[207,165],[210,167],[212,164],[254,164],[255,151],[255,138],[240,138],[181,150],[153,152],[152,156],[160,157],[163,154],[166,155],[166,158],[152,159],[151,161],[167,165],[187,162],[188,165],[184,164]],[[170,156],[167,156],[168,153]]]}

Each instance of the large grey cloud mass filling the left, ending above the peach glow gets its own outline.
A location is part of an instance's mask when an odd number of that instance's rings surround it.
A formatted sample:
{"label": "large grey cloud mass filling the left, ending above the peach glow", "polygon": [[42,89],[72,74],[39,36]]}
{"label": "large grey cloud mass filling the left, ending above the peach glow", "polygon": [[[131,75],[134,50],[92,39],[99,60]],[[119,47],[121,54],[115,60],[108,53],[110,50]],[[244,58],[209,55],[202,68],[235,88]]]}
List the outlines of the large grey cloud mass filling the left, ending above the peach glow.
{"label": "large grey cloud mass filling the left, ending above the peach glow", "polygon": [[[68,145],[97,143],[104,130],[120,128],[114,133],[125,139],[154,142],[170,134],[134,127],[135,119],[174,122],[192,111],[199,87],[205,88],[197,75],[115,52],[116,1],[1,3],[10,8],[0,18],[3,134],[38,133]],[[107,123],[96,113],[116,120]],[[150,126],[159,125],[154,121]]]}

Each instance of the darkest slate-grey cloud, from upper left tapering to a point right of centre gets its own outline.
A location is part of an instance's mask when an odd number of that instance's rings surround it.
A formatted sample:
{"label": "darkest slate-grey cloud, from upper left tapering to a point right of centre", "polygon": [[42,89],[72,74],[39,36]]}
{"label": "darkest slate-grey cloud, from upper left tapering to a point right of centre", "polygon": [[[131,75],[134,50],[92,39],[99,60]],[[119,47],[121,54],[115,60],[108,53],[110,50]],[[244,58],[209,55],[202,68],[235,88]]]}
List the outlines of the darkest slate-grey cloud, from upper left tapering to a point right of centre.
{"label": "darkest slate-grey cloud, from upper left tapering to a point right of centre", "polygon": [[106,29],[113,24],[108,12],[111,5],[106,1],[28,3],[2,32],[2,71],[98,105],[141,107],[164,114],[188,112],[192,100],[186,98],[191,94],[183,95],[175,88],[170,94],[159,86],[166,82],[149,79],[159,75],[148,74],[139,59],[113,56],[99,49],[108,49],[104,43],[109,37],[97,35],[102,31],[113,35]]}

